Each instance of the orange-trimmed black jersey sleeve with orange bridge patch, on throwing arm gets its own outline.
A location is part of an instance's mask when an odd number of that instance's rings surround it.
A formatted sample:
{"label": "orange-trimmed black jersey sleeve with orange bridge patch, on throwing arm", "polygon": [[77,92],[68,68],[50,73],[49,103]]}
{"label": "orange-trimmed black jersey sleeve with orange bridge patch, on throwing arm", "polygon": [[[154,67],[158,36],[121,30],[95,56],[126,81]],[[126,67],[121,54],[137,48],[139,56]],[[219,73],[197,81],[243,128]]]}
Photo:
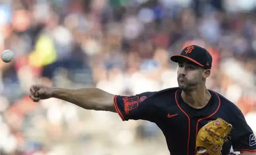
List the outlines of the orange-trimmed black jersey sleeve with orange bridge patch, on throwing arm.
{"label": "orange-trimmed black jersey sleeve with orange bridge patch, on throwing arm", "polygon": [[134,96],[114,96],[114,106],[122,121],[147,120],[154,122],[156,109],[154,92],[145,92]]}

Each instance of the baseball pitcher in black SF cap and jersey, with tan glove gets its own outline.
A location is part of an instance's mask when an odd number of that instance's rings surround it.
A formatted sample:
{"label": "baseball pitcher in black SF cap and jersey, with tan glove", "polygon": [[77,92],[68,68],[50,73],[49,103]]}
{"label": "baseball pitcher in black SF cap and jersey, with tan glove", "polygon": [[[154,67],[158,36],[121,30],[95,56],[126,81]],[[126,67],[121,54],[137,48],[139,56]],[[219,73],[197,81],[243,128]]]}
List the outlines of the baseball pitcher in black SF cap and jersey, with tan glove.
{"label": "baseball pitcher in black SF cap and jersey, with tan glove", "polygon": [[97,88],[32,85],[30,98],[38,102],[53,97],[87,110],[118,113],[123,121],[151,121],[163,131],[171,155],[256,155],[256,138],[242,112],[206,88],[212,63],[209,52],[190,45],[171,60],[178,63],[176,88],[120,96]]}

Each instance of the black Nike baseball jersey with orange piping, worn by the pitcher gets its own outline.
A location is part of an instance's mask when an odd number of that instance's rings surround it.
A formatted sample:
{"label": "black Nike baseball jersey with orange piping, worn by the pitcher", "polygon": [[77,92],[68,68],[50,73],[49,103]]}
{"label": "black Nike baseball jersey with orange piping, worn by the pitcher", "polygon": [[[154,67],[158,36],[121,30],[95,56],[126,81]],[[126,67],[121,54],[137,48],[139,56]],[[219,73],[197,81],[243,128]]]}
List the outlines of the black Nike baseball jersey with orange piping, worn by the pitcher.
{"label": "black Nike baseball jersey with orange piping, worn by the pitcher", "polygon": [[114,106],[123,121],[142,119],[155,123],[163,131],[171,155],[195,155],[198,131],[218,117],[233,126],[231,140],[223,145],[223,155],[230,150],[256,152],[254,133],[235,104],[209,90],[208,104],[195,109],[182,100],[181,92],[176,87],[134,96],[116,95]]}

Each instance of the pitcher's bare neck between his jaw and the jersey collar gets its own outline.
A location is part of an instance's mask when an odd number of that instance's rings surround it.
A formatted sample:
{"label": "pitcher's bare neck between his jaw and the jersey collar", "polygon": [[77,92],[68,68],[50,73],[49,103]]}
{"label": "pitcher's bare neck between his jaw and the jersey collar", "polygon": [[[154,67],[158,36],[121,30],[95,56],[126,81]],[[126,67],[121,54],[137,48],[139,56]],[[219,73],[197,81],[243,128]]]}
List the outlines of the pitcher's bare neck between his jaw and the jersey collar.
{"label": "pitcher's bare neck between his jaw and the jersey collar", "polygon": [[194,91],[182,91],[181,97],[189,106],[200,109],[209,102],[211,94],[204,86]]}

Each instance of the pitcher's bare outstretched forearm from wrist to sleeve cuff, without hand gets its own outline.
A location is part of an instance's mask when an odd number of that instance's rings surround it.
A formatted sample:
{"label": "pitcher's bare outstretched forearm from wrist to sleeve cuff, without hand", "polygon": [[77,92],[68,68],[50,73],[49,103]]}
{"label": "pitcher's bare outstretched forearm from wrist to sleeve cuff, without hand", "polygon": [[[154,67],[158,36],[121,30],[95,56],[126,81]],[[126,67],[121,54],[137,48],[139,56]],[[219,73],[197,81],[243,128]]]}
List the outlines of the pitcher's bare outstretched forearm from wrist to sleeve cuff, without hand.
{"label": "pitcher's bare outstretched forearm from wrist to sleeve cuff, without hand", "polygon": [[54,88],[52,97],[65,100],[88,110],[116,112],[113,103],[114,95],[97,88],[75,90]]}

